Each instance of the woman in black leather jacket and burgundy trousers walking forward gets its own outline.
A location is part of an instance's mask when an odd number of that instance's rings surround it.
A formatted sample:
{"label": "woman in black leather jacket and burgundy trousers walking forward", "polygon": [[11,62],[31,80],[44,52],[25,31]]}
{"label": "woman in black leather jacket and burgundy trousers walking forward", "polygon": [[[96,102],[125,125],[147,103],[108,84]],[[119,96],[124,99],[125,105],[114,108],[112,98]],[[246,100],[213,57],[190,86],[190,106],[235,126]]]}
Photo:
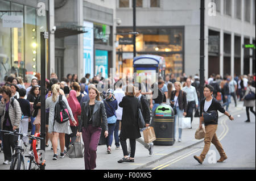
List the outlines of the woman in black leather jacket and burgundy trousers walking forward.
{"label": "woman in black leather jacket and burgundy trousers walking forward", "polygon": [[[85,170],[96,168],[96,150],[100,141],[101,130],[104,129],[108,137],[108,121],[104,103],[100,101],[100,92],[96,87],[89,87],[89,100],[82,103],[81,120],[77,136],[84,141]],[[103,128],[101,128],[101,126]]]}

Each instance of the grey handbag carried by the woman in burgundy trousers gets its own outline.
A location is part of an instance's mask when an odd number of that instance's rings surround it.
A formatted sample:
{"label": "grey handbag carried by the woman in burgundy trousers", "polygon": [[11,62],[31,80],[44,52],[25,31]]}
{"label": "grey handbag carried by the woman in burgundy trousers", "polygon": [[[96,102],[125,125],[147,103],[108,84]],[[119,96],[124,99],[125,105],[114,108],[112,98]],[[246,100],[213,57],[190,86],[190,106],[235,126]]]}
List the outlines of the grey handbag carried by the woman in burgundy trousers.
{"label": "grey handbag carried by the woman in burgundy trousers", "polygon": [[84,157],[84,144],[82,144],[80,136],[77,136],[76,141],[69,145],[67,155],[69,158]]}

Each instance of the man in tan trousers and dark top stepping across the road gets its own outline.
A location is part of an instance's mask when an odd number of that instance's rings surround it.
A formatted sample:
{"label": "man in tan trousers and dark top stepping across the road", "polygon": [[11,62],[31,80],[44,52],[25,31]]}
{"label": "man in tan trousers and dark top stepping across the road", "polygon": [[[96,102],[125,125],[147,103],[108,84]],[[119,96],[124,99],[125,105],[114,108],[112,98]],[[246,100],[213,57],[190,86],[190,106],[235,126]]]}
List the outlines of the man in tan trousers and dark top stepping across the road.
{"label": "man in tan trousers and dark top stepping across the road", "polygon": [[[200,124],[199,128],[202,129],[202,123],[204,122],[205,125],[205,137],[204,137],[204,149],[199,157],[194,155],[194,158],[202,164],[209,149],[210,149],[210,142],[216,147],[218,152],[220,153],[221,158],[217,162],[223,162],[225,159],[228,159],[224,149],[220,141],[218,141],[218,137],[216,135],[217,127],[218,127],[218,112],[224,113],[226,116],[229,117],[230,120],[234,120],[227,111],[221,106],[221,104],[212,96],[213,94],[213,87],[210,85],[204,86],[204,96],[205,99],[201,100],[200,102]],[[211,113],[212,115],[216,114],[216,119],[207,119],[204,115],[207,113]]]}

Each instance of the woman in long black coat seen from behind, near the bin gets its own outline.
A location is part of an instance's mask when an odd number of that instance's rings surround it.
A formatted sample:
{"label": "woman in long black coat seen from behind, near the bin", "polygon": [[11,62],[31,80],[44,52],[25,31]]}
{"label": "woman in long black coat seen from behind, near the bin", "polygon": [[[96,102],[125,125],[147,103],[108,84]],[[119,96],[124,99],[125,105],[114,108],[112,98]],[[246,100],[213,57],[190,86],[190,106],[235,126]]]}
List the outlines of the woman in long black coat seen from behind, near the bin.
{"label": "woman in long black coat seen from behind, near the bin", "polygon": [[[138,108],[139,100],[134,96],[134,86],[129,85],[126,87],[125,96],[118,104],[123,108],[122,120],[121,120],[121,132],[119,134],[120,143],[123,149],[123,158],[118,161],[122,162],[134,162],[136,139],[141,137],[138,124]],[[128,156],[127,151],[127,138],[130,139],[131,155]]]}

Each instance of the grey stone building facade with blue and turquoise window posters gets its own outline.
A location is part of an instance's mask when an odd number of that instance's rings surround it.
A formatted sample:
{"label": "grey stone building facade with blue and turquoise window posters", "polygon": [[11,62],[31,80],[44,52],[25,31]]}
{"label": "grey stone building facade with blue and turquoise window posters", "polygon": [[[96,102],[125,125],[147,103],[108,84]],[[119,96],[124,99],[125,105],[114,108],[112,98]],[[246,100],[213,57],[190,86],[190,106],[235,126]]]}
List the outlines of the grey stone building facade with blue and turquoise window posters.
{"label": "grey stone building facade with blue and turquoise window posters", "polygon": [[81,79],[102,73],[108,77],[115,66],[115,2],[55,1],[55,25],[58,28],[75,26],[84,33],[55,35],[55,72],[59,77],[68,73]]}

